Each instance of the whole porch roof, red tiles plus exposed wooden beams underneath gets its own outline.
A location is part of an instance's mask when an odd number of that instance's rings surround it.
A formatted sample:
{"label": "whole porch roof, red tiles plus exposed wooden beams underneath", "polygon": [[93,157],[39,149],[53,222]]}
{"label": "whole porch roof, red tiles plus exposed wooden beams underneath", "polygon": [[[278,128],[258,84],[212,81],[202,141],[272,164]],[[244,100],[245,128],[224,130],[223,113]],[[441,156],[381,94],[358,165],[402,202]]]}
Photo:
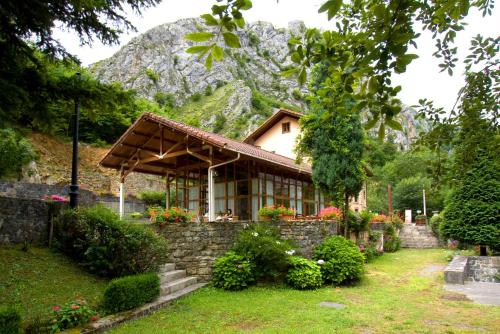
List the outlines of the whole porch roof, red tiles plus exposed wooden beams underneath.
{"label": "whole porch roof, red tiles plus exposed wooden beams underneath", "polygon": [[[214,150],[215,149],[215,150]],[[209,166],[234,158],[236,154],[288,171],[310,175],[308,164],[296,164],[293,159],[256,146],[200,130],[181,122],[165,119],[153,113],[139,117],[101,160],[103,167],[166,175],[187,168],[194,157]],[[183,159],[184,157],[184,159]]]}

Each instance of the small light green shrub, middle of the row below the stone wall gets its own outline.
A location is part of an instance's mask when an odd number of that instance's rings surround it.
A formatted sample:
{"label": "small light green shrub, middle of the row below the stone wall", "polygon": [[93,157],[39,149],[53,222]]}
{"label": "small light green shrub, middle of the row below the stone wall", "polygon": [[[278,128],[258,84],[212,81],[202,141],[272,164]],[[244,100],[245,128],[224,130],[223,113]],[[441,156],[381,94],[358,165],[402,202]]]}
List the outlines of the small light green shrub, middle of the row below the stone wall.
{"label": "small light green shrub, middle of the row below the stone wall", "polygon": [[320,267],[311,260],[299,256],[288,258],[286,282],[294,289],[317,289],[323,284]]}

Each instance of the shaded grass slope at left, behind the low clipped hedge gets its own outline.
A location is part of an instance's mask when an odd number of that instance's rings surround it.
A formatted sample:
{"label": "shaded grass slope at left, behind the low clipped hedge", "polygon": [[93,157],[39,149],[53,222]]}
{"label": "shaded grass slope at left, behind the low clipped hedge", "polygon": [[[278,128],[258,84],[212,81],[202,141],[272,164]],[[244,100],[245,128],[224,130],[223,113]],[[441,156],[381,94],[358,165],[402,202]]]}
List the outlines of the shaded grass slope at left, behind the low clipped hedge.
{"label": "shaded grass slope at left, behind the low clipped hedge", "polygon": [[24,320],[46,320],[52,306],[78,297],[96,306],[108,282],[47,248],[0,247],[0,268],[0,305],[19,306]]}

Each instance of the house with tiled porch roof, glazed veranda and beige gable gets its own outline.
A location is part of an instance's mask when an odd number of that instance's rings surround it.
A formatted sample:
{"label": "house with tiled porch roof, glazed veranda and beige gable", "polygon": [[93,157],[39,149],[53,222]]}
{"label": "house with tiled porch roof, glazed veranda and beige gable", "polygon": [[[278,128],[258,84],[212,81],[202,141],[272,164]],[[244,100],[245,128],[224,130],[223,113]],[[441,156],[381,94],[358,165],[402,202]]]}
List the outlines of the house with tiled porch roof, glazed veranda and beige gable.
{"label": "house with tiled porch roof, glazed veranda and beige gable", "polygon": [[[121,214],[124,180],[139,172],[164,176],[167,196],[174,196],[167,203],[208,213],[211,221],[228,209],[240,220],[258,220],[259,208],[272,204],[293,207],[298,215],[316,215],[329,200],[315,189],[311,166],[295,161],[300,116],[278,110],[239,142],[145,113],[100,164],[120,171]],[[358,200],[364,208],[365,190]]]}

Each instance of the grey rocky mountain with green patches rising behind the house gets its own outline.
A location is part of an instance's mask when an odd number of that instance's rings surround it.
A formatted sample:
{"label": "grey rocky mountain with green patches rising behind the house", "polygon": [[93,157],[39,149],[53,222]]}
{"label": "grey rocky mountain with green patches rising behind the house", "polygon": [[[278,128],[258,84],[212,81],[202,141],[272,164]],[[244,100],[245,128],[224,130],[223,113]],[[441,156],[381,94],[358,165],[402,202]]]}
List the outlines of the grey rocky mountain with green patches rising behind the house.
{"label": "grey rocky mountain with green patches rising behind the house", "polygon": [[[238,32],[242,47],[228,50],[211,71],[185,51],[192,42],[183,36],[202,29],[208,28],[200,19],[157,26],[91,71],[103,82],[118,81],[160,104],[169,103],[169,117],[236,139],[253,131],[273,108],[306,108],[305,87],[279,74],[291,65],[287,41],[304,32],[302,22],[291,22],[286,29],[267,22],[248,24]],[[400,122],[405,132],[395,137],[407,148],[421,126],[408,108]]]}

